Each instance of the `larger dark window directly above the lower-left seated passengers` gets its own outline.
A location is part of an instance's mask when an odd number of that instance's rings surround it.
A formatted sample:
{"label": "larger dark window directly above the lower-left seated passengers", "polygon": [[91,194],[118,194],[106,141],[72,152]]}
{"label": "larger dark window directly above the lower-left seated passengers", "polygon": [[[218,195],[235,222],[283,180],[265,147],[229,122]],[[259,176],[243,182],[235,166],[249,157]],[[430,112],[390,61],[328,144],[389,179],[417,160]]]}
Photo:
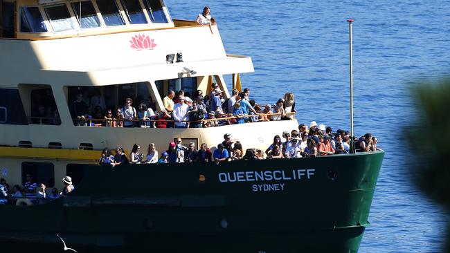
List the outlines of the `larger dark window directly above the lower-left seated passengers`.
{"label": "larger dark window directly above the lower-left seated passengers", "polygon": [[26,182],[26,175],[33,177],[38,184],[44,183],[46,187],[55,186],[55,167],[51,162],[22,162],[22,185]]}

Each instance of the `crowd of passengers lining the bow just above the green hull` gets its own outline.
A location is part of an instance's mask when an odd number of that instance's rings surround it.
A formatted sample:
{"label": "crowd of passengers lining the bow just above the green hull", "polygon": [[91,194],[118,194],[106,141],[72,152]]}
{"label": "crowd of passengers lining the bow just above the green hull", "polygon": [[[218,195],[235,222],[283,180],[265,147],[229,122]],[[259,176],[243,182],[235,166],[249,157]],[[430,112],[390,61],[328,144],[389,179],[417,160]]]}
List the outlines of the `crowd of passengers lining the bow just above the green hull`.
{"label": "crowd of passengers lining the bow just above the green hull", "polygon": [[[233,160],[262,160],[273,158],[302,158],[315,156],[331,156],[350,152],[350,133],[338,129],[333,133],[331,127],[311,122],[309,129],[305,124],[300,124],[298,130],[290,133],[284,131],[273,137],[273,143],[265,151],[261,149],[242,149],[240,140],[233,139],[230,133],[224,135],[224,141],[217,144],[212,152],[208,144],[203,143],[200,149],[194,142],[183,144],[181,138],[176,142],[169,142],[168,149],[159,156],[155,144],[150,143],[147,151],[142,151],[139,144],[134,144],[132,151],[127,156],[122,147],[117,147],[116,156],[111,155],[109,149],[103,149],[99,165],[141,164],[141,163],[181,163],[181,162],[215,162]],[[355,138],[355,151],[377,151],[377,138],[371,133],[366,133],[360,138]]]}

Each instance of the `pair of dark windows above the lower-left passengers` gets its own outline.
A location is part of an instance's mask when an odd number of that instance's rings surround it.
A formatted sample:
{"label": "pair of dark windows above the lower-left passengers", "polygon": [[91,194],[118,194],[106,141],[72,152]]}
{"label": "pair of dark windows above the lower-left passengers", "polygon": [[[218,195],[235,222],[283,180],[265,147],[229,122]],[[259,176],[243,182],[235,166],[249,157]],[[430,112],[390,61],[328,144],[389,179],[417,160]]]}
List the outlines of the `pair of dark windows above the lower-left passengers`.
{"label": "pair of dark windows above the lower-left passengers", "polygon": [[[84,165],[69,164],[66,166],[66,175],[72,178],[74,185],[82,180]],[[46,187],[55,186],[55,166],[51,162],[22,162],[21,180],[22,185],[26,182],[26,175],[33,177],[33,181],[37,184],[44,183]],[[57,180],[61,180],[57,178]]]}

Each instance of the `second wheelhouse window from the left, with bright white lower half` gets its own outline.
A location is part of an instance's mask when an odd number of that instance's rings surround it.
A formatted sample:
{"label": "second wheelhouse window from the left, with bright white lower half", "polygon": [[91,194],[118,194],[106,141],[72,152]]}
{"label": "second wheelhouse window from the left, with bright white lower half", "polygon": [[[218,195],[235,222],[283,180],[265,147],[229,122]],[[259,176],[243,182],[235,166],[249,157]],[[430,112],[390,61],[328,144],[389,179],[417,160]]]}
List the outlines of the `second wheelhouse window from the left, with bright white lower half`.
{"label": "second wheelhouse window from the left, with bright white lower half", "polygon": [[73,24],[69,10],[64,3],[58,4],[57,6],[46,6],[44,8],[55,32],[75,29],[75,24]]}

